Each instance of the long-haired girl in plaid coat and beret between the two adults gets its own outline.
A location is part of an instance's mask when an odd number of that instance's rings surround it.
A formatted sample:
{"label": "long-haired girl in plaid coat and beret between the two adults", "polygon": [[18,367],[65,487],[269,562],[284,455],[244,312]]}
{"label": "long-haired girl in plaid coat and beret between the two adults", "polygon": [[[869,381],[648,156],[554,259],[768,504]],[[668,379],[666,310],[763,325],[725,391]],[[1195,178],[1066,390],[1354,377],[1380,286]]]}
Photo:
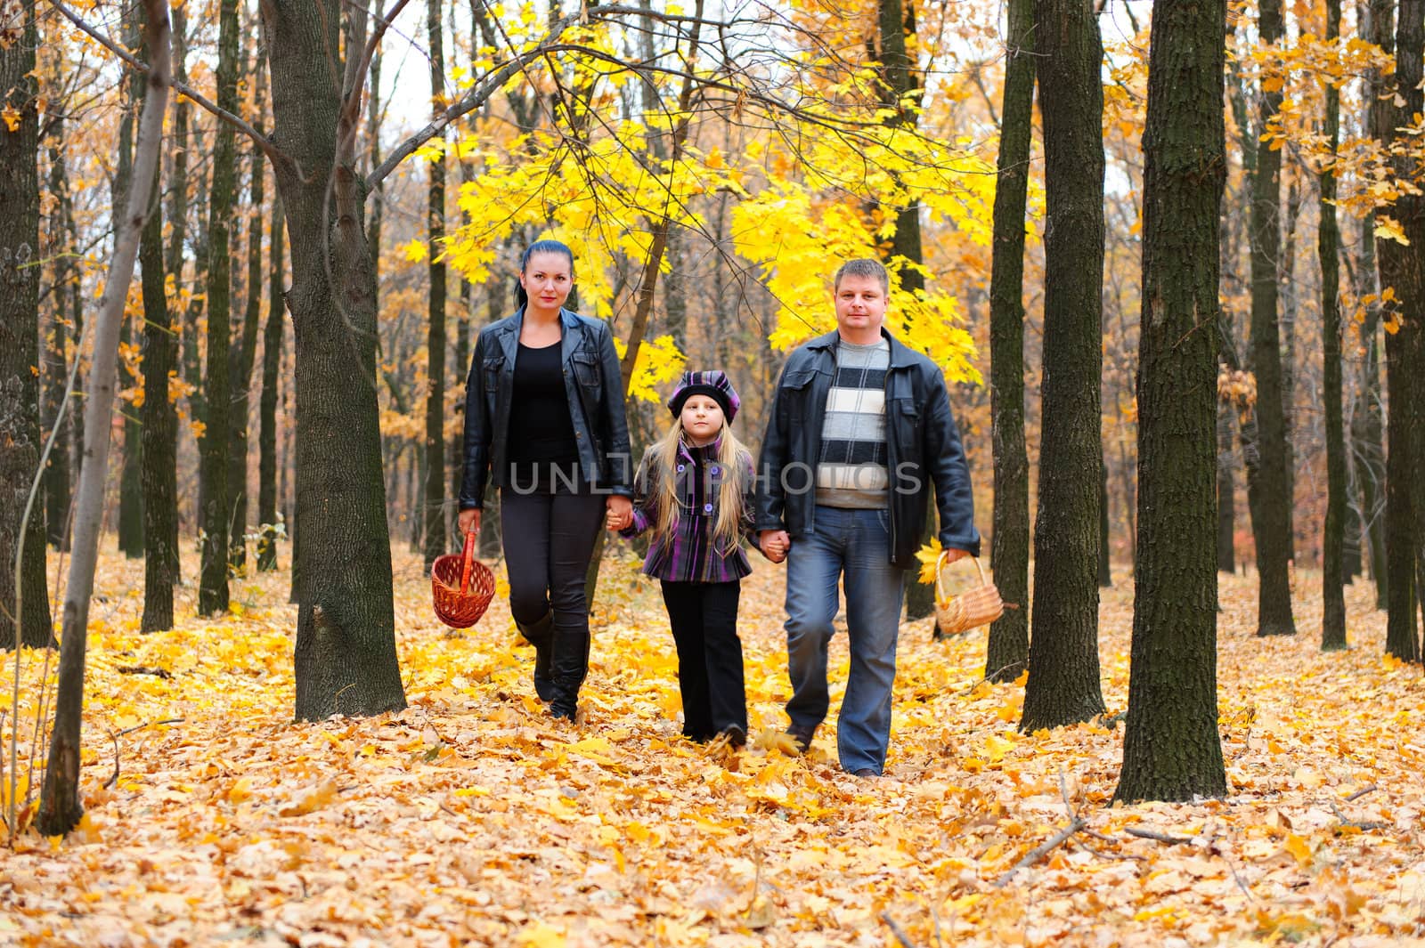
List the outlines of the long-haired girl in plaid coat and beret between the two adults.
{"label": "long-haired girl in plaid coat and beret between the two adults", "polygon": [[734,747],[747,742],[737,601],[752,571],[740,541],[754,524],[752,455],[727,427],[738,404],[721,372],[685,373],[668,399],[677,421],[638,464],[633,522],[607,518],[624,537],[653,531],[643,571],[663,581],[683,733],[697,742],[721,734]]}

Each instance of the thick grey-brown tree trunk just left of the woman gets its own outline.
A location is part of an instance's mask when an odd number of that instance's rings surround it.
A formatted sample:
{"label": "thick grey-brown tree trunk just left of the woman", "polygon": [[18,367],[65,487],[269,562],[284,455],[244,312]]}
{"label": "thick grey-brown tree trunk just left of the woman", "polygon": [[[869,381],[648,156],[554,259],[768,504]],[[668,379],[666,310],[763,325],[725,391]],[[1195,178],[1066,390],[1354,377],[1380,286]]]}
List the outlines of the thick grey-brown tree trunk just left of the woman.
{"label": "thick grey-brown tree trunk just left of the woman", "polygon": [[[286,209],[296,339],[296,717],[406,706],[396,660],[390,535],[376,406],[376,280],[352,168],[359,90],[338,84],[336,0],[262,4],[274,142]],[[346,48],[366,44],[365,9]],[[351,64],[346,73],[353,73]],[[345,108],[343,108],[345,105]]]}

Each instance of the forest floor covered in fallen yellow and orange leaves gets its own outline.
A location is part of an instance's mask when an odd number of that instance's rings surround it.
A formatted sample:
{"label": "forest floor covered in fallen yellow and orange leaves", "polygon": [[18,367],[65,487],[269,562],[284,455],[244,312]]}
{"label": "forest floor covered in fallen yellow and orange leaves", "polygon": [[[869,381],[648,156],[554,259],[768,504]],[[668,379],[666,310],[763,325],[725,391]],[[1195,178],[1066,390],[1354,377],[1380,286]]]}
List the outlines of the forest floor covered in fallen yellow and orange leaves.
{"label": "forest floor covered in fallen yellow and orange leaves", "polygon": [[[985,632],[932,642],[929,621],[902,629],[885,777],[841,771],[834,720],[809,757],[782,753],[784,574],[761,561],[740,626],[754,739],[691,744],[661,598],[634,567],[606,565],[579,725],[536,700],[504,602],[449,633],[403,548],[410,706],[296,725],[285,571],[235,581],[219,621],[197,619],[185,586],[178,628],[142,636],[142,564],[110,549],[87,816],[68,838],[26,831],[0,850],[0,944],[1425,944],[1425,683],[1382,656],[1364,581],[1349,651],[1321,653],[1315,574],[1297,575],[1298,635],[1274,639],[1253,635],[1255,581],[1224,578],[1230,796],[1120,807],[1121,726],[1019,734],[1023,685],[982,683]],[[1110,715],[1131,605],[1116,572],[1100,612]],[[838,683],[845,662],[838,635]],[[44,669],[23,655],[21,760]],[[1069,806],[1086,828],[996,885]]]}

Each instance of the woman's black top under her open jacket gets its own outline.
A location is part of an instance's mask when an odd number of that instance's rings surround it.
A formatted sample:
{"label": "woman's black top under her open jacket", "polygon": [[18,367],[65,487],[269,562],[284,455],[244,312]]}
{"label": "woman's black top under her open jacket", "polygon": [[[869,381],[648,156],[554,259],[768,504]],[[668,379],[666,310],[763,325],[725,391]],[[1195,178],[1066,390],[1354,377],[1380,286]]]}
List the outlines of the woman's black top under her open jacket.
{"label": "woman's black top under her open jacket", "polygon": [[569,416],[561,354],[560,343],[542,349],[520,343],[514,357],[509,461],[510,485],[522,493],[551,490],[554,467],[564,471],[563,481],[579,483],[579,444]]}

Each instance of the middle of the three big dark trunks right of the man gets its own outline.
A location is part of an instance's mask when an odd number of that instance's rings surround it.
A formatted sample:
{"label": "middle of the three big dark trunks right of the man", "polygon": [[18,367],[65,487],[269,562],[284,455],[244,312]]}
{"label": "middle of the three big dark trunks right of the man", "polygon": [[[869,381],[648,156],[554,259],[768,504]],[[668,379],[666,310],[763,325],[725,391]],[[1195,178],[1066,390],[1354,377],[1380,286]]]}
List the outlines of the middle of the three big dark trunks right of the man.
{"label": "middle of the three big dark trunks right of the man", "polygon": [[1092,0],[1037,0],[1035,7],[1045,127],[1045,367],[1025,732],[1103,712],[1099,485],[1084,477],[1103,464],[1103,44],[1094,10]]}

